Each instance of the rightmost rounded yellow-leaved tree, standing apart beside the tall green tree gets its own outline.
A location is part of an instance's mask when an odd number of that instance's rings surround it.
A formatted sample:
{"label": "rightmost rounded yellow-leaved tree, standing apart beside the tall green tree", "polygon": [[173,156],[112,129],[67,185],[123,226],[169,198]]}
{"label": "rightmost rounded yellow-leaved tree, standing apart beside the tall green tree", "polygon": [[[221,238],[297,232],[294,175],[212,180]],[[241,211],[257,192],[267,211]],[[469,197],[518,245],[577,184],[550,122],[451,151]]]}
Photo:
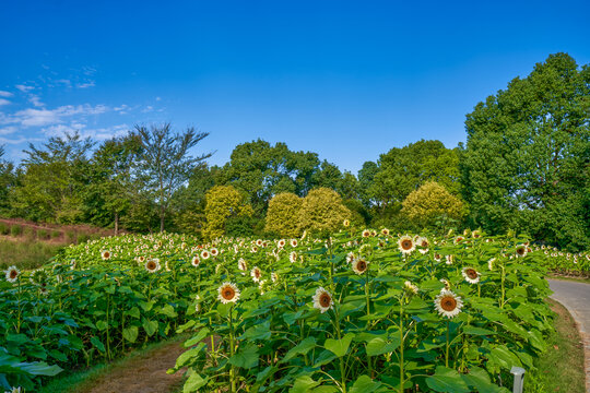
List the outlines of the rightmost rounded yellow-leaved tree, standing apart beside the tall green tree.
{"label": "rightmost rounded yellow-leaved tree, standing apart beside the tall green tree", "polygon": [[440,217],[461,219],[463,203],[436,181],[427,181],[403,201],[404,213],[418,227],[433,227]]}

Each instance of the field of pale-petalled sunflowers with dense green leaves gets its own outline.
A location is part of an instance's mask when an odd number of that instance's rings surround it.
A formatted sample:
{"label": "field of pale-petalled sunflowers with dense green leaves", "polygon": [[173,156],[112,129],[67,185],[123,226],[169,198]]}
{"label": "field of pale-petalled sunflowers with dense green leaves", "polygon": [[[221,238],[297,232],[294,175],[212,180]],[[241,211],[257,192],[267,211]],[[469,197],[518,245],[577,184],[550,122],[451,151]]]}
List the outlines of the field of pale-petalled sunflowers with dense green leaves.
{"label": "field of pale-petalled sunflowers with dense green leaves", "polygon": [[188,370],[185,392],[507,392],[553,330],[555,259],[479,231],[93,240],[5,272],[0,384],[34,391],[192,332],[170,370]]}

